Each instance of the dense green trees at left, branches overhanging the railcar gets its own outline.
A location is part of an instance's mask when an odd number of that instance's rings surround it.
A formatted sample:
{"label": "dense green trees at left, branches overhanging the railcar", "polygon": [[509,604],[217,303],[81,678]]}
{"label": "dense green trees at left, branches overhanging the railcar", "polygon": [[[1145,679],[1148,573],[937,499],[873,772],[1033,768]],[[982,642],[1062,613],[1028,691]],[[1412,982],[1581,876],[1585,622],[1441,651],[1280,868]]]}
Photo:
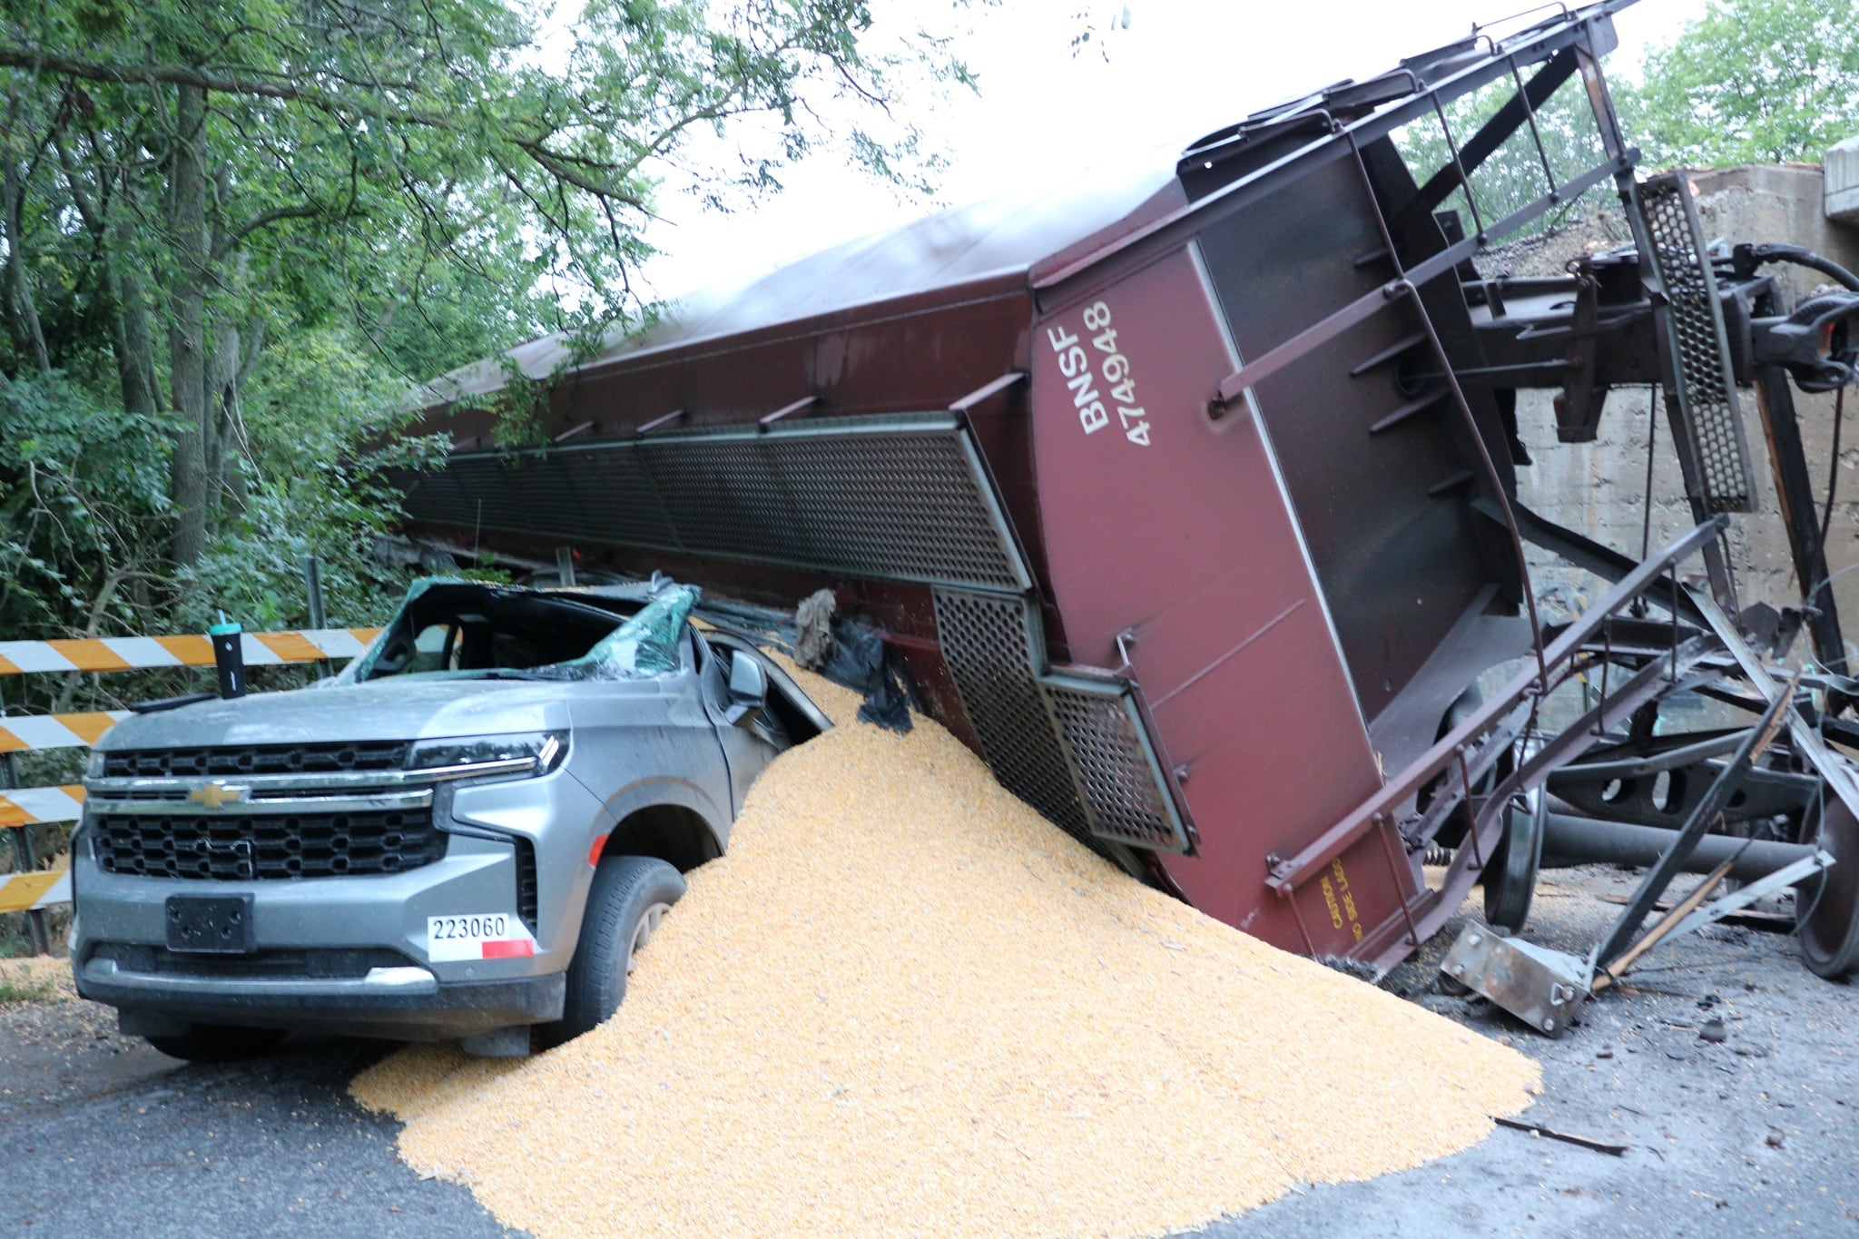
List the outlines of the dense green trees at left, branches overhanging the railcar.
{"label": "dense green trees at left, branches overhanging the railcar", "polygon": [[392,515],[361,444],[416,381],[647,308],[695,136],[760,117],[705,176],[736,199],[833,141],[918,184],[905,74],[970,84],[866,0],[589,0],[565,32],[521,0],[6,4],[0,626],[145,628],[231,552],[359,544]]}

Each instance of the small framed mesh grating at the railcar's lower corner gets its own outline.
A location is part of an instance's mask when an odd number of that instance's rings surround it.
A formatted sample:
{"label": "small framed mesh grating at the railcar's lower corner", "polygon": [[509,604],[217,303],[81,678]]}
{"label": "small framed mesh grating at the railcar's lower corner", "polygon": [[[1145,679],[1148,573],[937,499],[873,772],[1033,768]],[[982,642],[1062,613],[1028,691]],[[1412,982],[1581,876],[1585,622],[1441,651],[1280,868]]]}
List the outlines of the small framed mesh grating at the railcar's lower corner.
{"label": "small framed mesh grating at the railcar's lower corner", "polygon": [[1071,754],[1091,832],[1132,847],[1186,853],[1188,827],[1128,682],[1047,676],[1039,685]]}

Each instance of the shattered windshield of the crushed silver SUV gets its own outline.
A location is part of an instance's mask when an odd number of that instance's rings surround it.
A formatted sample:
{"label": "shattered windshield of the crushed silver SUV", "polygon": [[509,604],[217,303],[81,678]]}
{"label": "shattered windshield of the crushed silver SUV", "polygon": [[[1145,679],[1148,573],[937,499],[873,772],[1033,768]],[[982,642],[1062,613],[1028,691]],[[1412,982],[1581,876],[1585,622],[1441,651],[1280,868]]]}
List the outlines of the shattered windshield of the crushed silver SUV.
{"label": "shattered windshield of the crushed silver SUV", "polygon": [[697,596],[690,585],[666,585],[647,598],[608,598],[422,581],[376,645],[338,678],[662,676],[679,669],[679,639]]}

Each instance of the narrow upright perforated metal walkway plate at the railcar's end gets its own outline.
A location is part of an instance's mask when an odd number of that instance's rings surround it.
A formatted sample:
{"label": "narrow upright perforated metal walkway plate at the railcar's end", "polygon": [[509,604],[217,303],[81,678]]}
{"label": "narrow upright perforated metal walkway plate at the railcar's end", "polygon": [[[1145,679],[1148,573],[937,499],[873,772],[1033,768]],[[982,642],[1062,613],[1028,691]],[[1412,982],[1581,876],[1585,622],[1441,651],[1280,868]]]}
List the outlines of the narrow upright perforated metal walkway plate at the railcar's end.
{"label": "narrow upright perforated metal walkway plate at the railcar's end", "polygon": [[1705,509],[1755,511],[1755,477],[1731,372],[1729,336],[1718,280],[1705,253],[1703,227],[1681,175],[1653,176],[1640,188],[1640,217],[1653,245],[1653,269],[1671,310],[1679,420],[1690,438]]}

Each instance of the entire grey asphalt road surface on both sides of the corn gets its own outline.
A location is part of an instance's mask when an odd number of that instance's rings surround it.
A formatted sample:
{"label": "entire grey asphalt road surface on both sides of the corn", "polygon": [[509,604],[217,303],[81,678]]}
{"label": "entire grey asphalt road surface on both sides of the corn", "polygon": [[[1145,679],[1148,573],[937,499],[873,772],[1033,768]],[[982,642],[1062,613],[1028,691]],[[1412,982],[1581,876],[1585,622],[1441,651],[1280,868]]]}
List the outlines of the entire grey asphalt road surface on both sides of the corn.
{"label": "entire grey asphalt road surface on both sides of the corn", "polygon": [[[1549,873],[1528,936],[1591,944],[1632,875]],[[1193,1232],[1255,1235],[1859,1235],[1859,990],[1785,934],[1662,946],[1560,1040],[1433,990],[1456,927],[1385,985],[1543,1063],[1528,1120],[1627,1144],[1612,1157],[1498,1129],[1418,1170],[1318,1185]],[[1701,1031],[1720,1020],[1723,1040]],[[383,1051],[297,1042],[190,1066],[89,1003],[0,1007],[0,1226],[45,1235],[500,1235],[463,1187],[394,1155],[398,1124],[348,1081]],[[1127,1170],[1119,1170],[1127,1172]]]}

